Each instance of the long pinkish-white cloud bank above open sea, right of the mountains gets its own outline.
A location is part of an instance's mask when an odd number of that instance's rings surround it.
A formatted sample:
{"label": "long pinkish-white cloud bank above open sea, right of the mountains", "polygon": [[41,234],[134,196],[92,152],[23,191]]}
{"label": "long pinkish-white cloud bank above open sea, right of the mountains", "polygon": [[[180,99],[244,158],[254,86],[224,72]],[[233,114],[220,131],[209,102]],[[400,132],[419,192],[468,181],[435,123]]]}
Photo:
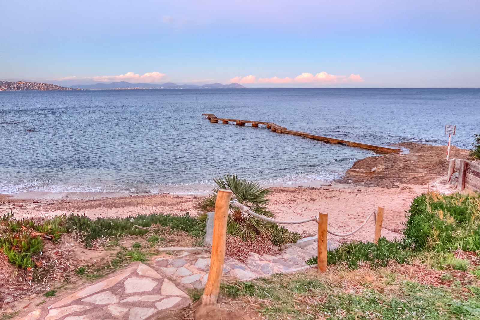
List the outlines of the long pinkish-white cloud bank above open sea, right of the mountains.
{"label": "long pinkish-white cloud bank above open sea, right of the mountains", "polygon": [[271,78],[259,78],[257,81],[255,81],[254,75],[248,75],[246,77],[238,76],[231,78],[230,81],[238,83],[312,83],[328,85],[336,83],[362,82],[363,79],[360,74],[350,74],[350,76],[347,77],[345,75],[328,74],[325,71],[322,71],[315,75],[304,72],[294,78],[279,78],[275,76]]}

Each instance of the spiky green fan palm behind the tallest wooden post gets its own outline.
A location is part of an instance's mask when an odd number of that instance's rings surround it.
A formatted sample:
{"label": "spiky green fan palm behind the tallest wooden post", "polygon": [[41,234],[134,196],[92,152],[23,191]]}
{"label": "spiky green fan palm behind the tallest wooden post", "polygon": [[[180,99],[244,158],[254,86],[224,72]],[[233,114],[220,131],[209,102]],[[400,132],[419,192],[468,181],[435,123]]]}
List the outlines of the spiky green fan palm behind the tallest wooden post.
{"label": "spiky green fan palm behind the tallest wooden post", "polygon": [[[198,209],[204,212],[200,215],[200,219],[205,220],[206,213],[215,210],[216,195],[220,189],[231,190],[233,193],[232,197],[237,199],[242,205],[250,207],[253,212],[275,218],[272,211],[267,209],[270,200],[267,199],[266,196],[272,192],[271,189],[262,188],[256,182],[241,179],[236,174],[229,173],[222,177],[215,178],[214,182],[216,186],[212,190],[212,194],[198,204]],[[240,236],[243,240],[254,240],[256,235],[271,238],[271,234],[275,232],[277,228],[273,223],[253,218],[230,205],[227,221],[228,234]]]}

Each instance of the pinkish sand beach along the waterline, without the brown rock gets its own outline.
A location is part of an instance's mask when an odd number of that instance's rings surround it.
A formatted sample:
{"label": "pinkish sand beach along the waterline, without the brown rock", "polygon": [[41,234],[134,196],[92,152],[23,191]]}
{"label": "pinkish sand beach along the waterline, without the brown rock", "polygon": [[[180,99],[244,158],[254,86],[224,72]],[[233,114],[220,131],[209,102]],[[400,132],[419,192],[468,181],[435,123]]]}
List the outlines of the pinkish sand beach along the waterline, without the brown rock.
{"label": "pinkish sand beach along the waterline, without the brown rock", "polygon": [[[270,208],[279,220],[301,220],[328,213],[329,229],[346,233],[363,222],[378,206],[384,207],[383,235],[389,239],[399,237],[405,221],[405,210],[413,197],[432,188],[428,185],[401,185],[399,188],[369,187],[333,184],[323,187],[275,187],[269,198]],[[30,195],[32,196],[32,195]],[[102,194],[42,194],[39,197],[12,197],[2,195],[0,212],[14,212],[15,218],[49,218],[61,214],[85,214],[89,217],[128,217],[137,214],[189,212],[197,215],[195,208],[201,197],[193,195],[147,195],[104,197]],[[52,198],[52,196],[57,196]],[[103,197],[102,197],[103,196]],[[112,195],[109,195],[112,196]],[[289,225],[300,234],[316,234],[314,222]],[[329,235],[333,243],[356,240],[371,240],[374,223],[371,220],[356,234],[339,238]]]}

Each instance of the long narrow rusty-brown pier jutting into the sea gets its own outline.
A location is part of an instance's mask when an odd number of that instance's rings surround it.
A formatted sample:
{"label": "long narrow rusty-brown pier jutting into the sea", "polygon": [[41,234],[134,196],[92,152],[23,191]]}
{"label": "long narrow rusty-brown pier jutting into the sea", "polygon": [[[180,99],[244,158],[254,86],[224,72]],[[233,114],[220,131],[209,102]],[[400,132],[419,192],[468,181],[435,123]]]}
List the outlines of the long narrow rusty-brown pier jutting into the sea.
{"label": "long narrow rusty-brown pier jutting into the sea", "polygon": [[359,143],[359,142],[352,142],[352,141],[347,141],[347,140],[341,140],[341,139],[335,139],[335,138],[329,138],[325,136],[320,136],[320,135],[312,135],[306,132],[301,132],[301,131],[295,131],[295,130],[289,130],[286,127],[282,127],[281,125],[278,125],[273,122],[266,122],[266,121],[250,121],[250,120],[240,120],[240,119],[226,119],[226,118],[218,118],[215,114],[211,113],[203,113],[202,115],[206,116],[208,120],[210,120],[211,123],[235,123],[237,125],[245,125],[245,123],[251,123],[252,127],[258,127],[259,124],[263,124],[266,126],[267,129],[270,129],[276,133],[282,133],[282,134],[288,134],[288,135],[298,135],[302,136],[304,138],[309,138],[309,139],[314,139],[317,141],[323,141],[326,143],[334,143],[337,145],[347,145],[348,147],[355,147],[355,148],[362,148],[362,149],[369,149],[373,150],[375,152],[381,152],[381,153],[398,153],[401,150],[399,148],[387,148],[387,147],[379,147],[379,146],[373,146],[373,145],[367,145],[364,143]]}

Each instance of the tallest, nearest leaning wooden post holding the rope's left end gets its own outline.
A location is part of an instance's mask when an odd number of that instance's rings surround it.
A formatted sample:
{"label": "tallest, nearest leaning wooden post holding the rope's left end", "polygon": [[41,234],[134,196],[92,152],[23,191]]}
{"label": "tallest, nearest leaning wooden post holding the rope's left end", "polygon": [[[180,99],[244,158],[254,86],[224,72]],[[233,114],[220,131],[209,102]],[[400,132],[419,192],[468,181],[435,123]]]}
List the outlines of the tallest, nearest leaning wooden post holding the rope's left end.
{"label": "tallest, nearest leaning wooden post holding the rope's left end", "polygon": [[222,280],[223,262],[225,260],[225,239],[227,237],[228,208],[230,206],[230,190],[218,190],[215,202],[215,217],[213,225],[212,254],[210,258],[210,271],[205,284],[202,304],[216,303],[220,282]]}

